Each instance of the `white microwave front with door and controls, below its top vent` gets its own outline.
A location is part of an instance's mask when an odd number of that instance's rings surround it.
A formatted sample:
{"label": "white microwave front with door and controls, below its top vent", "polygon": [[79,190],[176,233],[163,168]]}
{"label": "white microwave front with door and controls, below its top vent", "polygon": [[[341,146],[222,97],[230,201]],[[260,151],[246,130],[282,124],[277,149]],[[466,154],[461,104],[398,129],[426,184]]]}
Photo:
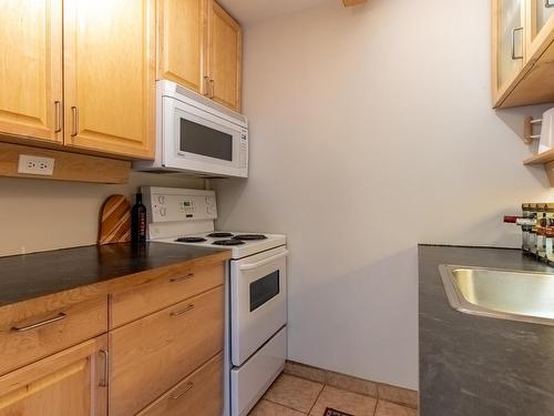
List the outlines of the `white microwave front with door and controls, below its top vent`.
{"label": "white microwave front with door and controls, below its top vent", "polygon": [[163,98],[163,153],[167,168],[246,176],[246,129],[174,98]]}

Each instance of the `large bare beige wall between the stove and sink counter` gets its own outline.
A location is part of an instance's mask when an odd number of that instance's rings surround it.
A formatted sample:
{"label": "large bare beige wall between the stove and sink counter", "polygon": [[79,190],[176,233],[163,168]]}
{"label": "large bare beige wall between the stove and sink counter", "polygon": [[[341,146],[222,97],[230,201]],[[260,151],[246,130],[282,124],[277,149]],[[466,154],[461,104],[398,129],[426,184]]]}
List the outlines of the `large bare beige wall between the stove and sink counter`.
{"label": "large bare beige wall between the stove and sink counter", "polygon": [[490,2],[370,0],[248,26],[252,171],[219,226],[286,233],[289,357],[416,388],[418,243],[517,246],[504,213],[552,200],[490,106]]}

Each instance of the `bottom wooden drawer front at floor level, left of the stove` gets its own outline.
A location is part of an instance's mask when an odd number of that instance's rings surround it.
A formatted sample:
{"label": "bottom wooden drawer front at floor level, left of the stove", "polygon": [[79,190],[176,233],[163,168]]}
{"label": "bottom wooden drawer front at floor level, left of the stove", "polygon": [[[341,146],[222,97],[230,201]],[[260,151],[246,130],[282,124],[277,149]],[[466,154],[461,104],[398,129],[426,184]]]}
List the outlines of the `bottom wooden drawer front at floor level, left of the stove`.
{"label": "bottom wooden drawer front at floor level, left of the stove", "polygon": [[219,353],[138,416],[220,416],[222,412],[223,353]]}

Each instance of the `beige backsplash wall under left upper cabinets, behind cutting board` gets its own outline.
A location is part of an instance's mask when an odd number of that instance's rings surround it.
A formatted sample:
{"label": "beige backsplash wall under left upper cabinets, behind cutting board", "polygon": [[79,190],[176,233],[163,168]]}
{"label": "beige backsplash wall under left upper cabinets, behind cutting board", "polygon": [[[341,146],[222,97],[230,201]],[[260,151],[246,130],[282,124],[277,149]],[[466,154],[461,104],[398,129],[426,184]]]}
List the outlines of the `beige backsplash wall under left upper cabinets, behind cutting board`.
{"label": "beige backsplash wall under left upper cabinets, behind cutting board", "polygon": [[99,210],[111,194],[140,185],[203,187],[198,179],[133,173],[127,185],[0,177],[0,256],[94,244]]}

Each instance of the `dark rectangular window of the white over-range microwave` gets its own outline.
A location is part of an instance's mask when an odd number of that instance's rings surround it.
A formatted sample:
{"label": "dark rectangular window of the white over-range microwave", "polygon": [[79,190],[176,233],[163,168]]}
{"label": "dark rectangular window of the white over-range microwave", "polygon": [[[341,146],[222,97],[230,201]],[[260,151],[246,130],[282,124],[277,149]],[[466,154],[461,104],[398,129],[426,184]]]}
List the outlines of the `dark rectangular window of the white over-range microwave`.
{"label": "dark rectangular window of the white over-range microwave", "polygon": [[230,162],[233,135],[181,119],[181,151]]}

